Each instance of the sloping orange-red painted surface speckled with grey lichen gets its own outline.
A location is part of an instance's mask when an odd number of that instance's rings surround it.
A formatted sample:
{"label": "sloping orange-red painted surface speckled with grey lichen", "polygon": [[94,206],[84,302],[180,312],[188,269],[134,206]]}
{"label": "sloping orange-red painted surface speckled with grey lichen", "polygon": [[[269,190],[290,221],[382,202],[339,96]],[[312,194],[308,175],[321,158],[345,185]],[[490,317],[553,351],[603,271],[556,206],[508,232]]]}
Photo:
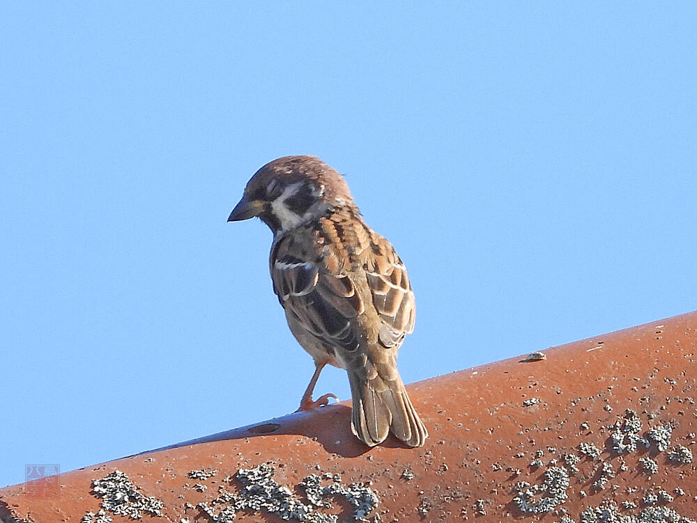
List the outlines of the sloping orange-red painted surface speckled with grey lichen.
{"label": "sloping orange-red painted surface speckled with grey lichen", "polygon": [[[63,473],[57,499],[37,498],[31,485],[6,487],[0,517],[79,522],[93,513],[85,521],[122,522],[130,517],[114,510],[134,514],[152,497],[161,515],[145,510],[143,520],[176,523],[292,521],[293,510],[307,522],[331,514],[590,522],[603,521],[602,510],[697,520],[697,312],[543,352],[546,358],[511,358],[408,387],[429,428],[422,448],[395,439],[363,446],[351,434],[350,408],[336,404]],[[273,467],[266,469],[273,478],[247,479],[245,490],[236,474],[261,464]],[[116,469],[132,482],[130,494],[109,490],[108,480],[93,485]],[[313,505],[307,485],[322,474],[338,474],[341,483],[321,479],[324,506]],[[289,490],[273,491],[273,482]],[[110,509],[101,506],[100,485]],[[274,496],[280,501],[268,509]]]}

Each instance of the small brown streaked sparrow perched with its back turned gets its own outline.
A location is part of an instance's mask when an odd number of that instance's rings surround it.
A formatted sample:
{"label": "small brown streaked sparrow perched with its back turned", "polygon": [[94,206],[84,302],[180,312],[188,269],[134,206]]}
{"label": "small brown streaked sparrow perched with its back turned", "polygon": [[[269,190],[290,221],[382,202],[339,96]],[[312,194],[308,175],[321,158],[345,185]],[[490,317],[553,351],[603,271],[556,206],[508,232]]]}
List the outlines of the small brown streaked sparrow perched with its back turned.
{"label": "small brown streaked sparrow perched with its back turned", "polygon": [[363,222],[344,177],[314,156],[264,165],[229,222],[258,216],[273,232],[273,291],[291,332],[314,359],[300,410],[312,401],[324,365],[345,369],[351,430],[374,446],[392,434],[409,446],[428,432],[397,371],[397,350],[414,328],[414,293],[390,242]]}

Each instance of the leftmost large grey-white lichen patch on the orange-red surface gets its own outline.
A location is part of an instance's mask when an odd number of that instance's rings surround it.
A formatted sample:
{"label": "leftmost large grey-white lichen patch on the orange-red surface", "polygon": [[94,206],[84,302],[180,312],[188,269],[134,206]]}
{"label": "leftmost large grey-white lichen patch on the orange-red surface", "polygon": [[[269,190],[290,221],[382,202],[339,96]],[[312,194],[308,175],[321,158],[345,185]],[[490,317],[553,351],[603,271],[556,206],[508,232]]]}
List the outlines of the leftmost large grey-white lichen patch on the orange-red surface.
{"label": "leftmost large grey-white lichen patch on the orange-red surface", "polygon": [[93,480],[92,493],[95,497],[102,499],[102,510],[97,514],[87,513],[82,518],[84,523],[111,521],[111,517],[106,515],[105,511],[130,517],[132,520],[139,520],[143,514],[162,516],[164,503],[153,496],[148,497],[138,492],[137,487],[120,470],[115,470],[104,478]]}

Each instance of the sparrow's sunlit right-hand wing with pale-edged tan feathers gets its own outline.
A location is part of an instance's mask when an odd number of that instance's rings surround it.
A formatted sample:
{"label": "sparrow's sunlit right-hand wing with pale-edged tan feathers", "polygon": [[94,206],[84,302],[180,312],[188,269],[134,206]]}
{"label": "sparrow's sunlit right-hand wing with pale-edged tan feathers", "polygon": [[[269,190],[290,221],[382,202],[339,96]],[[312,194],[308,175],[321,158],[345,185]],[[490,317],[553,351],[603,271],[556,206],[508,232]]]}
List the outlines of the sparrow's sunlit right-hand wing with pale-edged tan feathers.
{"label": "sparrow's sunlit right-hand wing with pale-edged tan feathers", "polygon": [[406,267],[389,241],[374,234],[365,264],[368,285],[382,324],[378,340],[385,347],[399,347],[414,330],[416,304]]}

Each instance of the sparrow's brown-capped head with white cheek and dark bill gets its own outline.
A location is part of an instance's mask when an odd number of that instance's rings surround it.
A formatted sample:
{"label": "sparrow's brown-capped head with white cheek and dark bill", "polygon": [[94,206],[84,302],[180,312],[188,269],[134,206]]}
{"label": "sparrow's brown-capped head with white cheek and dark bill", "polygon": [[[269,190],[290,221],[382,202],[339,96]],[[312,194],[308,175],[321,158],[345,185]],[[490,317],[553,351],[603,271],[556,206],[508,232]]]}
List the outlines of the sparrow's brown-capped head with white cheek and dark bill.
{"label": "sparrow's brown-capped head with white cheek and dark bill", "polygon": [[227,221],[258,216],[279,234],[340,206],[355,209],[341,174],[314,156],[284,156],[254,173]]}

